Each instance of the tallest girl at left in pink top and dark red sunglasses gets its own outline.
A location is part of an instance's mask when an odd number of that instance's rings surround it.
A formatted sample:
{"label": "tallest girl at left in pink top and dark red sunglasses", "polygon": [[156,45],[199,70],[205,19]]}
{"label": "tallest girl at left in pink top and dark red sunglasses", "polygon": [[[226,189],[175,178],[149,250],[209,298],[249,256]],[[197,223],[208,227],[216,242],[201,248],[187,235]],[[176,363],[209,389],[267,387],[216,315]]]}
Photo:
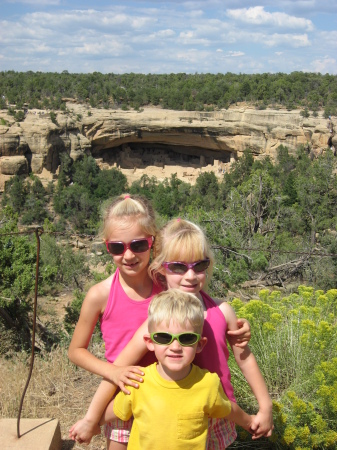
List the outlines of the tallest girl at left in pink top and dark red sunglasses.
{"label": "tallest girl at left in pink top and dark red sunglasses", "polygon": [[[112,363],[147,318],[153,295],[161,291],[148,274],[156,235],[151,205],[146,199],[129,194],[115,198],[104,213],[102,235],[117,270],[89,289],[68,355],[76,365],[114,381]],[[107,361],[96,358],[88,350],[97,320],[101,324]],[[148,362],[142,361],[144,365]],[[134,370],[142,374],[139,369]],[[131,425],[132,421],[116,421],[106,427],[109,450],[126,449]],[[80,437],[77,440],[81,442]]]}

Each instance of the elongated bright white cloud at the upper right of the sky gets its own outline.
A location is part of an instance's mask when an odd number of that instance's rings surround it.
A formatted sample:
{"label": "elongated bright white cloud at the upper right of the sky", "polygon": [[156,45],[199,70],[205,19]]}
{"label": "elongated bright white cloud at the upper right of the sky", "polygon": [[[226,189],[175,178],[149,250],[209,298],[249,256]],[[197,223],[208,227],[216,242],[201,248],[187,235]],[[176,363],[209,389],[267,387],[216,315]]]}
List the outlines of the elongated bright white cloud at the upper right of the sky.
{"label": "elongated bright white cloud at the upper right of the sky", "polygon": [[290,16],[282,12],[267,12],[263,6],[251,8],[229,9],[228,17],[246,22],[251,25],[267,25],[278,28],[304,29],[312,31],[314,29],[311,20],[301,17]]}

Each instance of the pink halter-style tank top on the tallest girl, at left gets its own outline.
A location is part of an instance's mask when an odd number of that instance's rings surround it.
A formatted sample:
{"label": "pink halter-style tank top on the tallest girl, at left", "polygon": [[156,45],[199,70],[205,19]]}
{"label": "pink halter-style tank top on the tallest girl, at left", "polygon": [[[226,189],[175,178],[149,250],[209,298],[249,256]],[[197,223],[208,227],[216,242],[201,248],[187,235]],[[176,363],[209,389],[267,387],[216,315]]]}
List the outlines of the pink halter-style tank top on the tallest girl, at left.
{"label": "pink halter-style tank top on the tallest girl, at left", "polygon": [[[147,310],[152,297],[161,291],[159,286],[153,284],[150,297],[141,301],[132,300],[124,292],[119,282],[119,269],[116,270],[112,278],[108,302],[100,321],[107,361],[114,362],[128,344],[147,319]],[[139,365],[145,367],[155,361],[154,352],[148,352]]]}

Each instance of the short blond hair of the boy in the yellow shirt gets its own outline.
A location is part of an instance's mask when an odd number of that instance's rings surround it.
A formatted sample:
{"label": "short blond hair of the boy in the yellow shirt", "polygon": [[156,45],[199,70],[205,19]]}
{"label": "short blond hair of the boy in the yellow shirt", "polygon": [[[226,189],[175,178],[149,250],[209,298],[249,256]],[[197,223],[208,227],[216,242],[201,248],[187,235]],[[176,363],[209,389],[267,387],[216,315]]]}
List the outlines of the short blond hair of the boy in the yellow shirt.
{"label": "short blond hair of the boy in the yellow shirt", "polygon": [[153,297],[148,311],[148,327],[152,333],[164,322],[167,326],[171,320],[180,326],[189,322],[196,333],[202,333],[204,310],[201,301],[194,295],[179,289],[169,289]]}

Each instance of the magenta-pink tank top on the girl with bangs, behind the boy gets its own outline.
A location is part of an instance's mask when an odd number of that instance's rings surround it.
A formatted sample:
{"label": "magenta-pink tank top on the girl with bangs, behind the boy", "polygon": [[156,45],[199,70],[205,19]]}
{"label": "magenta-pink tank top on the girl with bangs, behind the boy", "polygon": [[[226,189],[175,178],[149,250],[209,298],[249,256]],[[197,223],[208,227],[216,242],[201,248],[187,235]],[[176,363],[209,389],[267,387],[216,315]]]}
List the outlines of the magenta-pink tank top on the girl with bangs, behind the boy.
{"label": "magenta-pink tank top on the girl with bangs, behind the boy", "polygon": [[200,292],[207,310],[202,335],[208,342],[201,353],[197,353],[194,364],[202,369],[219,375],[227,397],[235,402],[234,389],[231,384],[231,374],[228,367],[229,351],[227,348],[227,322],[215,301],[205,292]]}

